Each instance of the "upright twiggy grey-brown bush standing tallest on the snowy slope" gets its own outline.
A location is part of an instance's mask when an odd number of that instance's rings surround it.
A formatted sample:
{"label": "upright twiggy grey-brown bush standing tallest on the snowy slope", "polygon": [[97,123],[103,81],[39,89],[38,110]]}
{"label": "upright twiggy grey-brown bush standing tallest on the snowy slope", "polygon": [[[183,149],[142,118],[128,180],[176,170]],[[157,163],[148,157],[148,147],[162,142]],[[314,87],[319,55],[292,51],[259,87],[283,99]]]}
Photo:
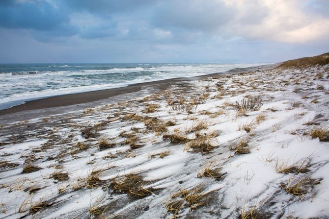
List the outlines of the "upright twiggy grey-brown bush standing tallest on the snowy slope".
{"label": "upright twiggy grey-brown bush standing tallest on the snowy slope", "polygon": [[235,111],[257,111],[263,105],[263,98],[259,96],[244,97],[240,101],[236,100]]}

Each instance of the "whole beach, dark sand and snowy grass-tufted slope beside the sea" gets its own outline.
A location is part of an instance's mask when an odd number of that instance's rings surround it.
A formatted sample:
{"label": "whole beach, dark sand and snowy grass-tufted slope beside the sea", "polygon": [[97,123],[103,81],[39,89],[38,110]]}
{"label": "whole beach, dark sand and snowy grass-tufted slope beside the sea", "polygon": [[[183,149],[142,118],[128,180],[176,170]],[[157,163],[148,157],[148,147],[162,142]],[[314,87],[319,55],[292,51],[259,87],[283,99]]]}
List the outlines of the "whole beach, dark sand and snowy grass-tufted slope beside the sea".
{"label": "whole beach, dark sand and snowy grass-tufted slope beside the sea", "polygon": [[0,218],[328,217],[329,65],[308,60],[0,110]]}

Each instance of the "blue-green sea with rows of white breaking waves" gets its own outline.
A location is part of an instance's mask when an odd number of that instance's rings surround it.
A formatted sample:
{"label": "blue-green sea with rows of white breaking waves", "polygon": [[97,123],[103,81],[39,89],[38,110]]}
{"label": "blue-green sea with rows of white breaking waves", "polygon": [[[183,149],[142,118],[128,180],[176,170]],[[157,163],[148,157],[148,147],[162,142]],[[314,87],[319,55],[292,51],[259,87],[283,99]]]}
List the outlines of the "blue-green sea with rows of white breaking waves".
{"label": "blue-green sea with rows of white breaking waves", "polygon": [[221,73],[268,63],[0,64],[0,109],[44,97]]}

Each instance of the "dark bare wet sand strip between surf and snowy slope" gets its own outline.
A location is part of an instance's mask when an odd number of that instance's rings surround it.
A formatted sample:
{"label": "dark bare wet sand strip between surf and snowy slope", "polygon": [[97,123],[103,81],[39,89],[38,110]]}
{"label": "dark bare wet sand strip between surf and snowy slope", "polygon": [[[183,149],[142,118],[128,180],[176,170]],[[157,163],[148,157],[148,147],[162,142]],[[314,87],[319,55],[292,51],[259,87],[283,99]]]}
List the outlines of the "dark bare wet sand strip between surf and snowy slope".
{"label": "dark bare wet sand strip between surf and snowy slope", "polygon": [[248,68],[236,68],[226,72],[219,72],[219,73],[212,73],[212,74],[205,74],[193,77],[177,77],[177,78],[170,78],[158,81],[151,81],[151,82],[143,82],[137,84],[131,84],[126,87],[119,87],[119,88],[110,88],[104,90],[97,90],[97,91],[88,91],[82,93],[75,93],[75,94],[66,94],[66,95],[58,95],[53,97],[45,97],[40,99],[34,99],[27,101],[23,104],[15,105],[10,108],[0,110],[0,116],[9,115],[9,114],[16,114],[23,111],[29,110],[40,110],[40,109],[47,109],[47,108],[54,108],[54,107],[63,107],[63,106],[71,106],[83,103],[90,103],[94,101],[108,99],[110,97],[115,97],[118,95],[123,94],[131,94],[135,92],[140,92],[144,88],[155,88],[157,90],[164,90],[168,86],[183,81],[191,81],[191,80],[199,80],[206,77],[211,76],[218,76],[224,75],[228,73],[241,73],[241,72],[251,72],[257,71],[259,69],[270,69],[274,68],[277,64],[268,64],[268,65],[261,65],[261,66],[253,66]]}

